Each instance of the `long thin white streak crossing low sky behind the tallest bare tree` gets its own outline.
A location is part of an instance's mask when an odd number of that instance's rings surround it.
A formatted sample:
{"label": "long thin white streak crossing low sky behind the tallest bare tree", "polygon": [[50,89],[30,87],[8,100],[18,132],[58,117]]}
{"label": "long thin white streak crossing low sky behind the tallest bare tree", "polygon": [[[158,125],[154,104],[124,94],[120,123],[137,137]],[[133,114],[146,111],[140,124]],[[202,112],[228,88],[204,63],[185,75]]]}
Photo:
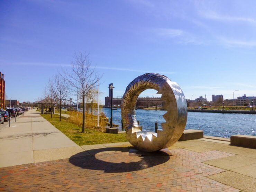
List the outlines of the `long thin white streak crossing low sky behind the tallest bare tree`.
{"label": "long thin white streak crossing low sky behind the tallest bare tree", "polygon": [[[6,63],[6,62],[5,62]],[[71,64],[56,64],[56,63],[38,63],[38,62],[19,62],[19,63],[12,63],[10,65],[31,65],[31,66],[64,66],[64,67],[71,67]],[[104,66],[91,66],[92,68],[97,69],[106,69],[106,70],[116,70],[116,71],[130,71],[130,72],[142,72],[142,73],[149,73],[150,71],[143,71],[143,70],[133,70],[128,68],[115,68],[115,67],[104,67]],[[175,72],[155,72],[160,74],[174,74]]]}

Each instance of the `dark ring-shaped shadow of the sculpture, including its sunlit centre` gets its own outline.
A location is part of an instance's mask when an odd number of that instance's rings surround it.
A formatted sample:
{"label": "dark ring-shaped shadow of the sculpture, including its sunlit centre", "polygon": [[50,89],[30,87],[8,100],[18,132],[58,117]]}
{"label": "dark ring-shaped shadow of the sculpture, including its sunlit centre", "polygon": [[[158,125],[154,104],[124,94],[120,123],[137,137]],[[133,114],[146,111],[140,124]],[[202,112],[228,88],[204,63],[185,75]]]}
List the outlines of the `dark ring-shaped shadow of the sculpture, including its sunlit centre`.
{"label": "dark ring-shaped shadow of the sculpture, including its sunlit centre", "polygon": [[[86,152],[91,155],[82,156],[85,152],[80,152],[73,155],[69,162],[83,169],[100,170],[105,173],[122,173],[150,168],[163,164],[170,159],[170,156],[159,155],[129,156],[128,150],[128,147],[90,149],[86,150]],[[96,154],[99,155],[97,155],[99,158],[95,157]]]}

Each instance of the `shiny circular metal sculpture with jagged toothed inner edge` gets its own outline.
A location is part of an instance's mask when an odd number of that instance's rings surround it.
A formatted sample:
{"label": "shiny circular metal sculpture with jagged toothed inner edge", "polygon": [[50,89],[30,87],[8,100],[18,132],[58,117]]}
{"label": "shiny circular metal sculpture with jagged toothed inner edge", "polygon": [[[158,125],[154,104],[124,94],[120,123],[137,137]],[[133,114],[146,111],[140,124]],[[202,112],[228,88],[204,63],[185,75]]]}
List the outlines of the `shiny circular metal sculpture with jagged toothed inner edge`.
{"label": "shiny circular metal sculpture with jagged toothed inner edge", "polygon": [[[163,108],[167,111],[157,133],[143,131],[136,120],[136,102],[139,94],[146,89],[155,89],[162,94]],[[122,122],[127,140],[137,149],[153,152],[170,147],[182,135],[187,121],[188,110],[185,96],[180,86],[168,77],[158,73],[146,73],[135,78],[127,86],[122,97]]]}

